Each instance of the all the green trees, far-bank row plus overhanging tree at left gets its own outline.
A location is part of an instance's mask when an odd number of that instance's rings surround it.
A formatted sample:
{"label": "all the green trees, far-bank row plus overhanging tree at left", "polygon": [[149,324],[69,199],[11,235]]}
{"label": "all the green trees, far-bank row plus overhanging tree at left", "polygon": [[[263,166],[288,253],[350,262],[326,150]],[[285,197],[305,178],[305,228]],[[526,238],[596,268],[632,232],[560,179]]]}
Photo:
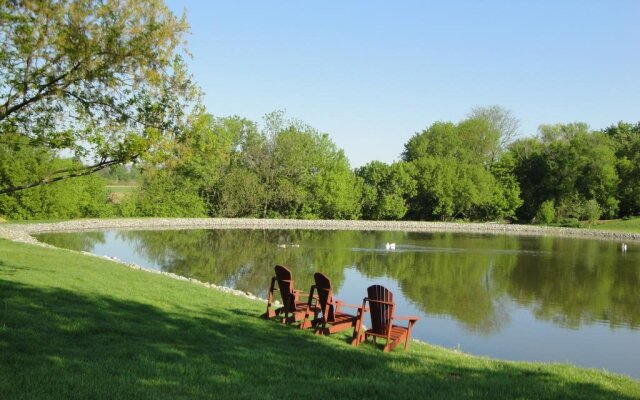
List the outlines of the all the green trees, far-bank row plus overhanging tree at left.
{"label": "all the green trees, far-bank row plus overhanging tree at left", "polygon": [[[189,75],[186,17],[161,0],[0,0],[0,215],[516,220],[640,214],[640,123],[542,125],[480,107],[435,122],[400,160],[353,170],[282,112],[214,117]],[[107,200],[96,174],[134,165]],[[107,174],[108,175],[108,174]]]}

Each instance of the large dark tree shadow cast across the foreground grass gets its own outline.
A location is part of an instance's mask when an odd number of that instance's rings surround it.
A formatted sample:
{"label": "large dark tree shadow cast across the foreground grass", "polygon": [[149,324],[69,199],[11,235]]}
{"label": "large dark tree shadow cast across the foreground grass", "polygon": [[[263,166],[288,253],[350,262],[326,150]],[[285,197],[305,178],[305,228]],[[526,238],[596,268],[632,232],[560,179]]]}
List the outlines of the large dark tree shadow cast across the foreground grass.
{"label": "large dark tree shadow cast across the foreground grass", "polygon": [[[383,354],[263,321],[250,309],[169,313],[0,280],[0,393],[37,398],[611,398],[535,366]],[[257,314],[256,314],[257,315]]]}

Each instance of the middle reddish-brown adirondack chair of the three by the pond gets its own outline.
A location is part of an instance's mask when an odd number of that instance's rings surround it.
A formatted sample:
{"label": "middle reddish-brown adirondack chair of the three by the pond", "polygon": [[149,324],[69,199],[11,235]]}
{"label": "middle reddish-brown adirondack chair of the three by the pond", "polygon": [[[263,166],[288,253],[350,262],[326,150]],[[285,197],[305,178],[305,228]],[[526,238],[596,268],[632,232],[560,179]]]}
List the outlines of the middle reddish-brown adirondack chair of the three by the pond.
{"label": "middle reddish-brown adirondack chair of the three by the pond", "polygon": [[[317,335],[331,335],[332,333],[353,328],[351,344],[357,346],[361,339],[362,307],[346,304],[334,299],[331,281],[326,275],[316,272],[313,274],[313,278],[315,285],[311,286],[310,293],[314,294],[314,292],[317,292],[318,308],[321,314],[321,316],[317,315],[314,320],[314,325],[316,326],[315,333]],[[355,308],[356,314],[345,313],[341,310],[342,307]],[[307,311],[307,318],[309,319],[311,318],[310,312],[311,310],[309,309]]]}

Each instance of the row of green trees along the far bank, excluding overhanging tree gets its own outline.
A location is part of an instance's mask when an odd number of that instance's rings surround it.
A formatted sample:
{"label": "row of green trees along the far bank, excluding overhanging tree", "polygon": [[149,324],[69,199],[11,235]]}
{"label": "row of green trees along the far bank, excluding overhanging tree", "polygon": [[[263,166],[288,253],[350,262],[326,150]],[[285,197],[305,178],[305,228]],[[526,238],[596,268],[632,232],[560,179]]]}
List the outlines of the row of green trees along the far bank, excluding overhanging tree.
{"label": "row of green trees along the far bank, excluding overhanging tree", "polygon": [[[118,204],[106,199],[105,178],[91,175],[0,195],[0,213],[570,226],[640,214],[640,123],[597,131],[542,125],[538,135],[508,142],[498,123],[505,119],[514,120],[500,107],[477,108],[416,133],[399,161],[352,169],[327,134],[282,112],[257,123],[200,110],[155,159],[135,167],[140,187]],[[0,154],[2,179],[17,182],[80,163],[34,146],[2,145]]]}

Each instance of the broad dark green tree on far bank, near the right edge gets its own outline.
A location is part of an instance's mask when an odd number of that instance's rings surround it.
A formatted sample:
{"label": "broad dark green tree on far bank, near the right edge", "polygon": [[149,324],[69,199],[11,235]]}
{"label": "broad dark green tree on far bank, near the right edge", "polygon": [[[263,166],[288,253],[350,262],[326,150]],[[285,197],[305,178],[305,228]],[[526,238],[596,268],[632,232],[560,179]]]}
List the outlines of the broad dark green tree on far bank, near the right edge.
{"label": "broad dark green tree on far bank, near the right edge", "polygon": [[510,151],[524,200],[521,219],[533,218],[548,200],[557,205],[558,218],[584,218],[589,200],[598,203],[602,215],[617,214],[619,178],[606,135],[582,123],[542,125],[537,138],[517,141]]}

